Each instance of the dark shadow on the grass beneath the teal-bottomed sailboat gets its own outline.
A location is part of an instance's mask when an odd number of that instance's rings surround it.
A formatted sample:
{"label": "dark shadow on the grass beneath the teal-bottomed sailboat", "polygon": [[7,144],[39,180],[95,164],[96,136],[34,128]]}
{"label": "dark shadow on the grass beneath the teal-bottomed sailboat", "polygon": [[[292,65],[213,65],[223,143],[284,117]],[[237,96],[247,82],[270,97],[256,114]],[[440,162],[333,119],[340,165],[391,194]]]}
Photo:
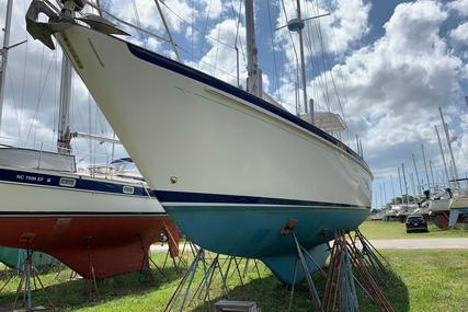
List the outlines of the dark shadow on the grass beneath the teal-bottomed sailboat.
{"label": "dark shadow on the grass beneath the teal-bottomed sailboat", "polygon": [[[313,281],[319,293],[323,293],[326,278],[321,274],[313,275]],[[408,288],[399,276],[389,271],[385,276],[385,281],[379,284],[386,293],[395,311],[409,311]],[[356,285],[358,302],[362,312],[379,311],[365,292]],[[262,311],[287,311],[290,297],[290,287],[282,285],[274,276],[253,279],[244,286],[237,286],[229,291],[229,300],[255,301]],[[225,297],[212,299],[212,304]],[[192,311],[207,311],[206,304],[199,304]],[[308,299],[307,286],[301,282],[295,288],[292,311],[311,311],[311,303]]]}

